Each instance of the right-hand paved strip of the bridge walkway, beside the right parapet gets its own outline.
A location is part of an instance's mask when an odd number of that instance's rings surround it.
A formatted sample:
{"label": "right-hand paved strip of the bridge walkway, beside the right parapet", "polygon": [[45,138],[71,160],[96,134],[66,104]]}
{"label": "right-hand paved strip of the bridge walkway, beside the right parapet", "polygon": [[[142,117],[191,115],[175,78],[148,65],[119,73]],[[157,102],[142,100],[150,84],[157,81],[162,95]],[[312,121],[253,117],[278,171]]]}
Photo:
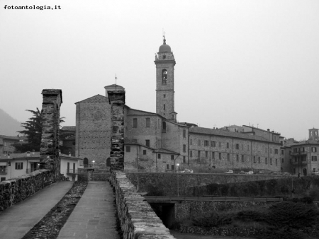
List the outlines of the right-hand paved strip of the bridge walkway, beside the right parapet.
{"label": "right-hand paved strip of the bridge walkway, beside the right parapet", "polygon": [[116,206],[108,182],[89,182],[58,239],[118,239]]}

